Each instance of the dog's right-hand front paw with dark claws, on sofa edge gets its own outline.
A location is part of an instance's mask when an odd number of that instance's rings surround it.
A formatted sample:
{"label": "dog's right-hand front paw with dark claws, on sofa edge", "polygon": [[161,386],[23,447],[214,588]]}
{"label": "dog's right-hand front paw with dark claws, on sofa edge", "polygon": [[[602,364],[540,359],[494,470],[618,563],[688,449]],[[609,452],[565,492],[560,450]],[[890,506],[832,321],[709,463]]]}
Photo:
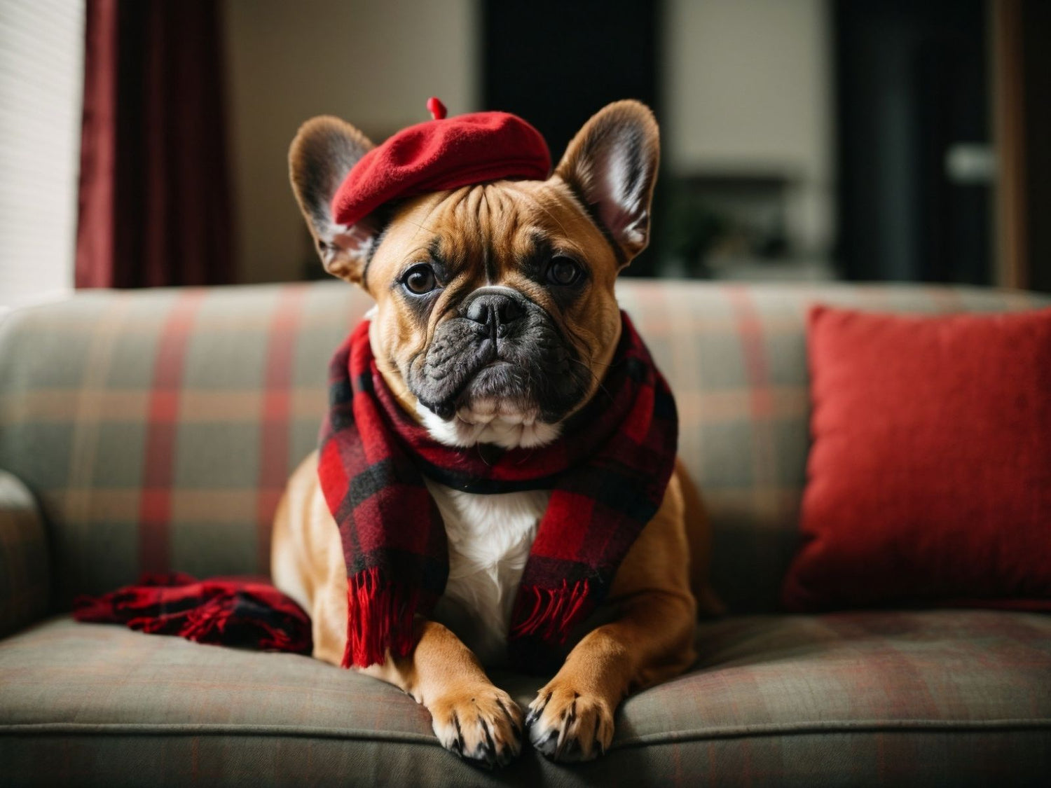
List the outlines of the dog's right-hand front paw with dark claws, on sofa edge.
{"label": "dog's right-hand front paw with dark claws, on sofa edge", "polygon": [[552,761],[591,761],[613,741],[613,705],[558,679],[541,689],[529,708],[530,742]]}

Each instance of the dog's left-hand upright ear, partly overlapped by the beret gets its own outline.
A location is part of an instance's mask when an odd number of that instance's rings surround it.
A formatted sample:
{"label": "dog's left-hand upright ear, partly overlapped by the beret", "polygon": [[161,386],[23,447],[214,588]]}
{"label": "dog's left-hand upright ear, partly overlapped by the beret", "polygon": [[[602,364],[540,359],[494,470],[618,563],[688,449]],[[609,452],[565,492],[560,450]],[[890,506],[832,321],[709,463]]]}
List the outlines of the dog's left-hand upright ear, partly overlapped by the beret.
{"label": "dog's left-hand upright ear, partly overlapped by the beret", "polygon": [[332,195],[350,169],[373,147],[369,138],[346,121],[321,116],[300,127],[288,149],[292,191],[325,270],[356,284],[362,284],[377,229],[368,219],[352,227],[336,224],[332,219]]}

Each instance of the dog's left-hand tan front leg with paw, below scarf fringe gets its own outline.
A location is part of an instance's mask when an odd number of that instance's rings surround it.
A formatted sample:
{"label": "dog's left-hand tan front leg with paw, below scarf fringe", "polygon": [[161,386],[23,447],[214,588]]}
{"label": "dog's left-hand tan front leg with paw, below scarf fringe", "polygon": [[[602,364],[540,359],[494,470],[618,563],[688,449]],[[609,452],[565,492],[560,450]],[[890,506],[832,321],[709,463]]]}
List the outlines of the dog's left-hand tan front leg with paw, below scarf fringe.
{"label": "dog's left-hand tan front leg with paw, below scarf fringe", "polygon": [[448,628],[417,619],[418,642],[407,657],[362,672],[400,687],[431,712],[434,733],[460,758],[492,768],[521,750],[522,712],[493,685],[477,658]]}

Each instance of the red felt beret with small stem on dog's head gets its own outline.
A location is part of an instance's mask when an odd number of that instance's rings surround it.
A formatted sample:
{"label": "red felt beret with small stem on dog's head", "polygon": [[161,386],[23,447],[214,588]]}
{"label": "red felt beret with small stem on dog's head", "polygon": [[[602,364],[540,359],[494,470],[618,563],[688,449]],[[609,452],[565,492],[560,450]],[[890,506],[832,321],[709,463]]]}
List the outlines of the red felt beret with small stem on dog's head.
{"label": "red felt beret with small stem on dog's head", "polygon": [[353,225],[389,200],[460,186],[551,173],[551,153],[533,126],[508,112],[446,119],[431,99],[433,121],[409,126],[354,165],[332,198],[332,216]]}

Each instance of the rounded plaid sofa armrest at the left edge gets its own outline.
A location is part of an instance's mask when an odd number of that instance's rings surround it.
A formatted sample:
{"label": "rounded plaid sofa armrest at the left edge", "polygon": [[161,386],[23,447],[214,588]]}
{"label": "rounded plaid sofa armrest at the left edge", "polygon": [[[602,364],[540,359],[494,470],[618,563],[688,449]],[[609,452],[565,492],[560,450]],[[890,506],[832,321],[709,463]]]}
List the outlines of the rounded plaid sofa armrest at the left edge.
{"label": "rounded plaid sofa armrest at the left edge", "polygon": [[0,637],[42,617],[49,590],[43,517],[25,484],[0,471]]}

